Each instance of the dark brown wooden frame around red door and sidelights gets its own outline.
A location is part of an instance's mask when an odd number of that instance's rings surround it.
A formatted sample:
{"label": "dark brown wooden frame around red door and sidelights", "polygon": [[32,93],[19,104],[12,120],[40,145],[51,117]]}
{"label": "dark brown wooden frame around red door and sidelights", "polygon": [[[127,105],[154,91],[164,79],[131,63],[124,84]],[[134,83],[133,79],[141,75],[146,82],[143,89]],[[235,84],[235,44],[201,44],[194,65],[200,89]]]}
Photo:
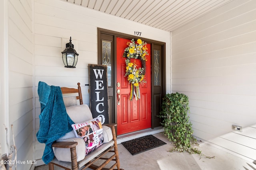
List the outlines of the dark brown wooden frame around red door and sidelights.
{"label": "dark brown wooden frame around red door and sidelights", "polygon": [[[134,35],[128,35],[128,34],[124,34],[124,33],[118,33],[118,32],[115,32],[115,31],[110,31],[110,30],[107,30],[107,29],[102,29],[102,28],[98,28],[98,64],[102,64],[102,56],[101,56],[101,35],[104,34],[104,35],[110,35],[110,36],[113,36],[113,50],[112,50],[112,53],[113,53],[113,66],[114,66],[114,69],[113,69],[113,75],[114,75],[114,80],[113,80],[113,89],[111,90],[114,94],[114,98],[113,98],[113,107],[114,107],[114,113],[112,113],[112,115],[114,116],[113,117],[113,121],[112,123],[116,123],[117,121],[117,117],[116,117],[116,37],[122,37],[122,38],[127,38],[127,39],[143,39],[143,41],[147,42],[147,43],[151,43],[152,44],[152,47],[151,47],[151,56],[154,57],[154,45],[161,45],[162,46],[162,60],[161,60],[161,64],[162,64],[162,67],[161,67],[161,84],[162,84],[162,95],[166,94],[166,43],[163,43],[163,42],[160,42],[160,41],[154,41],[154,40],[151,40],[151,39],[146,39],[146,38],[142,38],[142,37],[136,37]],[[153,60],[151,60],[153,62]],[[152,73],[152,63],[151,63],[151,75],[153,75]],[[153,79],[153,78],[152,78]],[[152,94],[154,94],[154,82],[151,81],[151,84],[152,84],[152,89],[151,89],[151,92]],[[154,101],[154,96],[152,95],[152,99],[151,99],[151,102],[152,102],[152,128],[154,127],[158,127],[160,126],[160,119],[157,117],[157,115],[159,115],[159,111],[156,111],[154,110],[155,108],[153,108],[155,105],[153,102],[156,102]],[[159,102],[159,101],[158,101]],[[161,96],[161,102],[160,104],[162,103],[162,96]],[[158,106],[160,107],[160,106]],[[153,114],[154,113],[154,114]],[[153,123],[153,121],[156,120],[157,122],[159,123]]]}

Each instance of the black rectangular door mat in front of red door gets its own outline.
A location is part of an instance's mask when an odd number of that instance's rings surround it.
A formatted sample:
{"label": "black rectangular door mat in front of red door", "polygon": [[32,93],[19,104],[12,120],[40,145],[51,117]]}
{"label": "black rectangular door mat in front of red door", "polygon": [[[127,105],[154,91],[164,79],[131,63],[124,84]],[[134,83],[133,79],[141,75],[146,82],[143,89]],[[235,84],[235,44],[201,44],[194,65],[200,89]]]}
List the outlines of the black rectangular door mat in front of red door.
{"label": "black rectangular door mat in front of red door", "polygon": [[165,145],[166,143],[160,139],[154,137],[153,135],[147,135],[144,137],[139,137],[132,139],[130,141],[122,142],[122,145],[132,154],[138,154],[146,150],[150,150],[156,147]]}

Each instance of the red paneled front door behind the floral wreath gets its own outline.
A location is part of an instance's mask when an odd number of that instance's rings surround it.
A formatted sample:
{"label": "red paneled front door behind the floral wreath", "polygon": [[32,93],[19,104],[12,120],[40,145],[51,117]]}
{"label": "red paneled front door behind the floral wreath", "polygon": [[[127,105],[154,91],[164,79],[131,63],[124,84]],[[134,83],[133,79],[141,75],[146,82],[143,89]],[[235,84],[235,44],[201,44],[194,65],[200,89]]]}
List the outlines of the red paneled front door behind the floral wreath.
{"label": "red paneled front door behind the floral wreath", "polygon": [[[143,39],[142,39],[143,40]],[[146,56],[146,72],[145,78],[146,83],[140,83],[140,99],[130,100],[131,84],[129,84],[126,73],[126,57],[124,55],[124,49],[128,47],[127,42],[130,39],[117,38],[117,50],[116,50],[116,65],[117,75],[116,79],[120,86],[117,86],[117,90],[120,90],[120,104],[117,105],[117,135],[124,133],[130,133],[147,129],[151,127],[151,55],[150,55],[150,44],[147,44],[148,54]],[[141,67],[141,61],[135,59],[138,67]],[[131,59],[130,62],[134,62]],[[117,94],[117,99],[119,95]]]}

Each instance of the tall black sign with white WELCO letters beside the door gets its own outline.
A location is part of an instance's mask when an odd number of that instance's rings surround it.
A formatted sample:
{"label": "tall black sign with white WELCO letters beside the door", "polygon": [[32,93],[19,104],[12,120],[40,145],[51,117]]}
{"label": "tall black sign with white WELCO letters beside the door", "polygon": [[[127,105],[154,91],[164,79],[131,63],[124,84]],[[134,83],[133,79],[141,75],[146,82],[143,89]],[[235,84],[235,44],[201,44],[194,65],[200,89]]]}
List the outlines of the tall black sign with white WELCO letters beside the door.
{"label": "tall black sign with white WELCO letters beside the door", "polygon": [[109,123],[107,66],[89,64],[90,109],[92,117]]}

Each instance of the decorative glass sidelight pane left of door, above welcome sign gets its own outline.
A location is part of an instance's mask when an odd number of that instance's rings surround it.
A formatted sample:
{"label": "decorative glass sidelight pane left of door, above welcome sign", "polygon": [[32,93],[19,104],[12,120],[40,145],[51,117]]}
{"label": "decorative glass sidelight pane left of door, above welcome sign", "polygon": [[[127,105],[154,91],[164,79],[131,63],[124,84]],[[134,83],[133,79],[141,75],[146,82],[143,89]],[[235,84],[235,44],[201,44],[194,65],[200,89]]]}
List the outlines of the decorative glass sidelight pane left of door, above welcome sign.
{"label": "decorative glass sidelight pane left of door, above welcome sign", "polygon": [[111,41],[102,41],[102,64],[108,68],[108,86],[112,86]]}

